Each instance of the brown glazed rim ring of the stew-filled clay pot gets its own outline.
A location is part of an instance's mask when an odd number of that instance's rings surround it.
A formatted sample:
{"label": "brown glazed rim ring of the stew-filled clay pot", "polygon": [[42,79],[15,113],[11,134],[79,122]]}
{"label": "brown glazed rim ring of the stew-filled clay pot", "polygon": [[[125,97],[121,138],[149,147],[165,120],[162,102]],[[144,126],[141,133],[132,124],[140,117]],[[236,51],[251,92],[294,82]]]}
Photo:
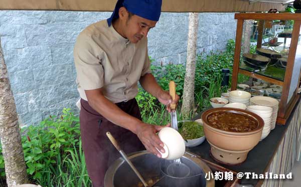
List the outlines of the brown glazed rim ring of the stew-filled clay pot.
{"label": "brown glazed rim ring of the stew-filled clay pot", "polygon": [[[251,131],[248,131],[248,132],[230,132],[230,131],[225,131],[225,130],[221,130],[221,129],[218,129],[218,128],[214,128],[214,127],[209,125],[207,118],[210,114],[218,112],[218,111],[231,111],[231,112],[234,112],[234,113],[247,115],[247,116],[252,117],[253,119],[255,119],[258,122],[258,126],[255,129],[253,129]],[[214,131],[217,131],[217,132],[220,132],[220,133],[223,133],[223,134],[230,134],[230,135],[254,134],[254,133],[257,133],[257,132],[261,131],[263,129],[263,126],[264,126],[263,119],[260,116],[258,116],[257,114],[255,114],[253,112],[250,112],[250,111],[247,111],[247,110],[243,110],[243,109],[228,108],[228,107],[208,109],[208,110],[206,110],[202,113],[202,120],[203,120],[204,127],[210,128]]]}

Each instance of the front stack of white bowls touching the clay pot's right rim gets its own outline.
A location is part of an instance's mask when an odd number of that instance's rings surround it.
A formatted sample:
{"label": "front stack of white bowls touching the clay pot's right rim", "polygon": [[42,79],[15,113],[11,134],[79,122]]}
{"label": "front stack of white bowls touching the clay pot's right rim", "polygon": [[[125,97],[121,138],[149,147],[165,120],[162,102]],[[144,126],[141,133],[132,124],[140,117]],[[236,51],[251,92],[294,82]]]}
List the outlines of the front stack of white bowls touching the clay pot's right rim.
{"label": "front stack of white bowls touching the clay pot's right rim", "polygon": [[247,110],[259,115],[263,119],[264,126],[260,138],[260,140],[263,140],[271,131],[271,117],[273,109],[269,106],[251,105],[247,106]]}

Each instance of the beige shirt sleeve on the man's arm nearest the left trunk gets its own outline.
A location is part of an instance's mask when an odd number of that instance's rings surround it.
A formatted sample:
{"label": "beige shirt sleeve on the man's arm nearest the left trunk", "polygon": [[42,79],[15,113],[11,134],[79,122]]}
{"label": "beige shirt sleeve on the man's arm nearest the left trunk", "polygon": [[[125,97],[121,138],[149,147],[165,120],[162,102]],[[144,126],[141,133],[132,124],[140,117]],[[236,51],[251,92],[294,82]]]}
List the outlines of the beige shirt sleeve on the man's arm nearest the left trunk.
{"label": "beige shirt sleeve on the man's arm nearest the left trunk", "polygon": [[77,81],[84,90],[94,90],[104,86],[104,71],[101,64],[103,50],[91,36],[78,36],[74,50]]}

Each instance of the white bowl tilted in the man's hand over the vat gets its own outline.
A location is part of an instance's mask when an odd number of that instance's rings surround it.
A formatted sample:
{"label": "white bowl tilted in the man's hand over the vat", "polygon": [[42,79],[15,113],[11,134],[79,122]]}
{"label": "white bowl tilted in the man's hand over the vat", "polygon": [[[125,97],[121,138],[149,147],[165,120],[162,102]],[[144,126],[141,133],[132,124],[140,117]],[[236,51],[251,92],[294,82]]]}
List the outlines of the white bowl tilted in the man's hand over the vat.
{"label": "white bowl tilted in the man's hand over the vat", "polygon": [[165,153],[161,153],[162,158],[174,160],[181,158],[184,155],[185,142],[177,130],[171,127],[164,127],[160,130],[158,136],[165,144]]}

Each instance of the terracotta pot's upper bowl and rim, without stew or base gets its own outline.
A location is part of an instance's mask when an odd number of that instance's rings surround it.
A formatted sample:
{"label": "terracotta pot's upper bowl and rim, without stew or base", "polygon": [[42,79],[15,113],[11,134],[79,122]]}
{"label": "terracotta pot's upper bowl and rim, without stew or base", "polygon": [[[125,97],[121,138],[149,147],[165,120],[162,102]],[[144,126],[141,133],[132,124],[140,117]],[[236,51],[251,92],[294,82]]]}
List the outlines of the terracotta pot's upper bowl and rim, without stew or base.
{"label": "terracotta pot's upper bowl and rim, without stew or base", "polygon": [[[213,113],[229,112],[237,113],[244,116],[248,116],[257,121],[257,127],[249,132],[229,132],[221,129],[214,128],[208,123],[208,116]],[[260,140],[264,121],[261,117],[246,110],[238,108],[213,108],[206,110],[202,114],[202,120],[204,122],[204,133],[208,141],[213,145],[232,151],[244,151],[252,149]]]}

